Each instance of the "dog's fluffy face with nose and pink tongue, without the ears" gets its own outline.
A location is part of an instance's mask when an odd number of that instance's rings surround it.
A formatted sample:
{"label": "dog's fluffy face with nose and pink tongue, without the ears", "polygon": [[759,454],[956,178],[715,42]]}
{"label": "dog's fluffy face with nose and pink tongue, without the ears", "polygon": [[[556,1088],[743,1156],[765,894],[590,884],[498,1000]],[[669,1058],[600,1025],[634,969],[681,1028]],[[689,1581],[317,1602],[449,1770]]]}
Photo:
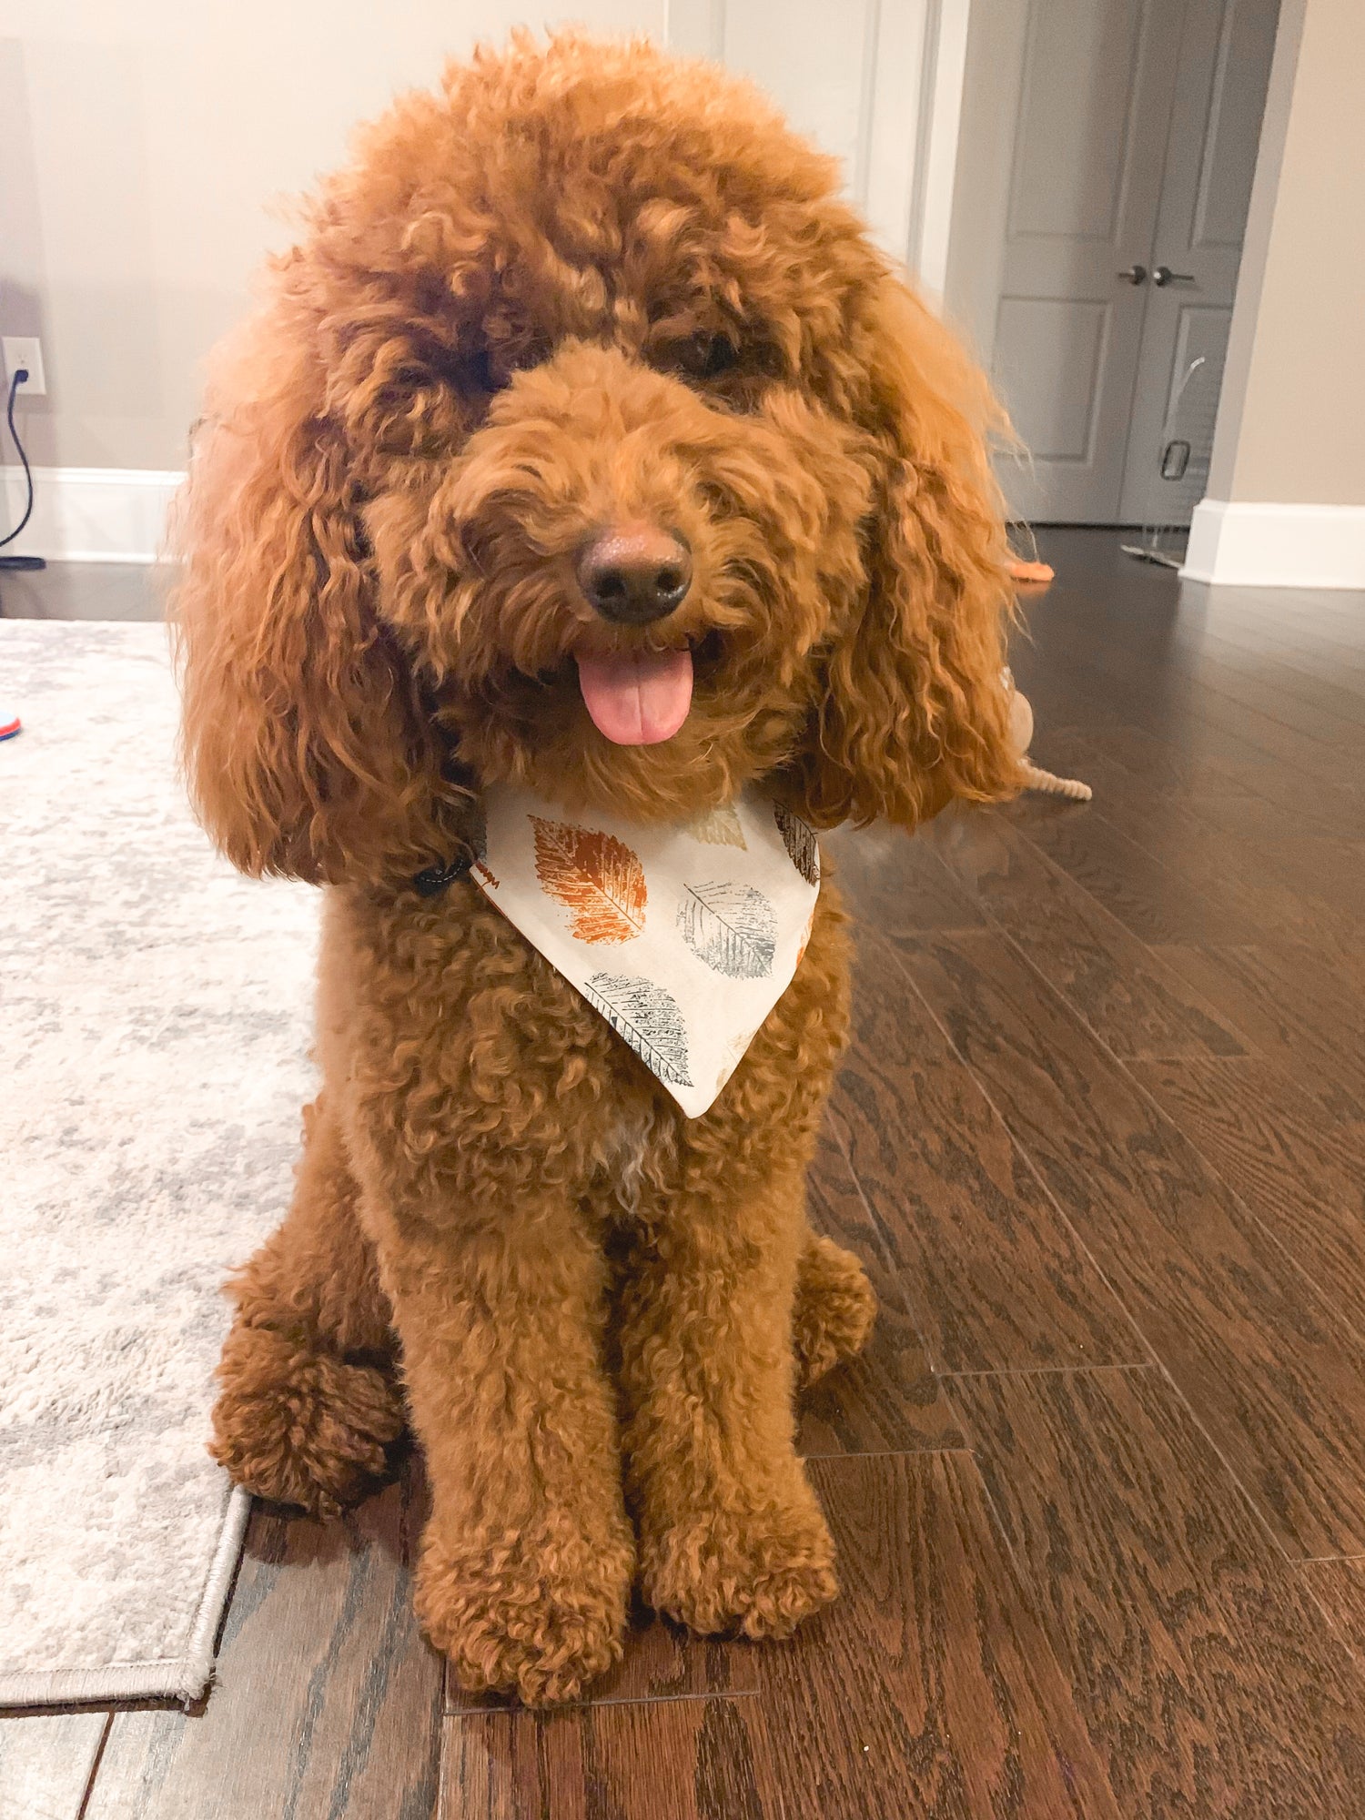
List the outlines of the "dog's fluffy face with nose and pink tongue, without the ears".
{"label": "dog's fluffy face with nose and pink tongue, without the ears", "polygon": [[380,613],[480,783],[675,819],[797,743],[868,471],[797,382],[741,373],[737,329],[681,326],[551,342],[366,510]]}

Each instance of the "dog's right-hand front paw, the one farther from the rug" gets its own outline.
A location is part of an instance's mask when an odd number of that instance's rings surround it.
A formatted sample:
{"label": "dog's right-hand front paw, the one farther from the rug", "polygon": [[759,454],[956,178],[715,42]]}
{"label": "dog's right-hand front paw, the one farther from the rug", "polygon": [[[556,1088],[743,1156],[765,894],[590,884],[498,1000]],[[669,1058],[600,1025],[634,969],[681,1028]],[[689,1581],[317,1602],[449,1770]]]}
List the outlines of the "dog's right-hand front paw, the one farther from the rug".
{"label": "dog's right-hand front paw, the one farther from the rug", "polygon": [[703,1636],[790,1636],[839,1591],[834,1540],[804,1485],[783,1509],[708,1511],[641,1542],[641,1591]]}

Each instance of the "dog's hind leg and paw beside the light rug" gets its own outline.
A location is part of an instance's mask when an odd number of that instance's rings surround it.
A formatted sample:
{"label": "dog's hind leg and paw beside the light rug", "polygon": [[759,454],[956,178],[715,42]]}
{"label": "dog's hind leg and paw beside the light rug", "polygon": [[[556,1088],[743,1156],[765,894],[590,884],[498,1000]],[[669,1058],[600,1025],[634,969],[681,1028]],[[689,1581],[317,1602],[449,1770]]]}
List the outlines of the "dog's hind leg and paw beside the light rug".
{"label": "dog's hind leg and paw beside the light rug", "polygon": [[304,1112],[284,1225],[229,1283],[211,1452],[262,1498],[335,1516],[389,1476],[404,1432],[389,1305],[326,1099]]}

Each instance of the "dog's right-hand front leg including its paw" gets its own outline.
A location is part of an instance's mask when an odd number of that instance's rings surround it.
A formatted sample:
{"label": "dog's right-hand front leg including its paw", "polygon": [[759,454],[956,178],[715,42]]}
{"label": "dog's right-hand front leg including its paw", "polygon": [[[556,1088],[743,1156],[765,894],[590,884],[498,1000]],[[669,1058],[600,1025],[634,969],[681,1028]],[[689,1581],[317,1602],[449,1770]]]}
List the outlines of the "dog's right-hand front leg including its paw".
{"label": "dog's right-hand front leg including its paw", "polygon": [[[804,1161],[804,1159],[803,1159]],[[641,1587],[693,1631],[786,1636],[834,1598],[834,1543],[794,1445],[804,1168],[735,1188],[686,1168],[621,1296]]]}

